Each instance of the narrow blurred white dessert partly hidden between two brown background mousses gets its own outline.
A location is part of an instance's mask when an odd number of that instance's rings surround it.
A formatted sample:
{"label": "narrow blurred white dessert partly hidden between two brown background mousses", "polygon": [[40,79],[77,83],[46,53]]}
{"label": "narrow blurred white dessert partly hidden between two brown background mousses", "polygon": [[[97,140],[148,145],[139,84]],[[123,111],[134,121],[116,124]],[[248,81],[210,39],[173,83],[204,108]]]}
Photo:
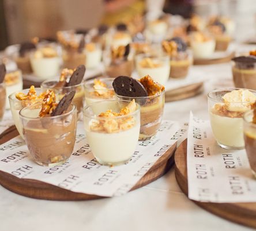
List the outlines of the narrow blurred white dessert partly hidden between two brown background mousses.
{"label": "narrow blurred white dessert partly hidden between two brown background mousses", "polygon": [[97,68],[100,65],[102,50],[100,44],[88,43],[85,45],[85,67],[89,69]]}

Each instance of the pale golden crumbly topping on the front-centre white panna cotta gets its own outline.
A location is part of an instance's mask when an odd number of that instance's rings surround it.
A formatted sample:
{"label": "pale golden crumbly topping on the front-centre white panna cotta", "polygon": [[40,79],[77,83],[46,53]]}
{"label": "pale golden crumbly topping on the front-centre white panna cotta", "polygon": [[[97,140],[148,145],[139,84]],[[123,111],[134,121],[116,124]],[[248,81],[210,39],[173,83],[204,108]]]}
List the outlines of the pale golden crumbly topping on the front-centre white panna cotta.
{"label": "pale golden crumbly topping on the front-centre white panna cotta", "polygon": [[107,110],[99,114],[99,117],[104,118],[104,120],[92,120],[90,128],[94,132],[105,132],[105,133],[116,133],[122,130],[127,130],[133,128],[135,125],[135,120],[132,116],[126,118],[116,119],[120,115],[128,115],[136,110],[136,103],[133,99],[129,105],[123,107],[119,113],[112,110]]}

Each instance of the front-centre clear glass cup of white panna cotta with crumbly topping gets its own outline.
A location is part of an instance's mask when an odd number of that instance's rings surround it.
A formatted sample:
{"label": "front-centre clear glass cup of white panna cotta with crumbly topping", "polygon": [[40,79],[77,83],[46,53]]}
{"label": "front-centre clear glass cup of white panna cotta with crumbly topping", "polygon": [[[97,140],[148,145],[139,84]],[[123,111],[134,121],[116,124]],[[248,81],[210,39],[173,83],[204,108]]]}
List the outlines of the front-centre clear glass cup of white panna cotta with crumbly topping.
{"label": "front-centre clear glass cup of white panna cotta with crumbly topping", "polygon": [[[107,100],[84,107],[84,127],[93,155],[102,165],[127,163],[135,151],[140,134],[140,105],[127,115],[98,117],[94,107],[119,112],[129,101]],[[103,129],[104,128],[104,129]]]}

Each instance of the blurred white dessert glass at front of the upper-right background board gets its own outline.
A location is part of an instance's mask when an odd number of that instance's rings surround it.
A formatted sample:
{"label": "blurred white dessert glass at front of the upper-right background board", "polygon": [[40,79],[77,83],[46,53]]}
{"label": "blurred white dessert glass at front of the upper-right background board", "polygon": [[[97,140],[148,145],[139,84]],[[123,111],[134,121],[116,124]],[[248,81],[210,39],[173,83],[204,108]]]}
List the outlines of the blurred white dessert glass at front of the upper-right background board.
{"label": "blurred white dessert glass at front of the upper-right background board", "polygon": [[215,40],[208,34],[193,32],[190,36],[190,46],[195,59],[209,59],[215,49]]}

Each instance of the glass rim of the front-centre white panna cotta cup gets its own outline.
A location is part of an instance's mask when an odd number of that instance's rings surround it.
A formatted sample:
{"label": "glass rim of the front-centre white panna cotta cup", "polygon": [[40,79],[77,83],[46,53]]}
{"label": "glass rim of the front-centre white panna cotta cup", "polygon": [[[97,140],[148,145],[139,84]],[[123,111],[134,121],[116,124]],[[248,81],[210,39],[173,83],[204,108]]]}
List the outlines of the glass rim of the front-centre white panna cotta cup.
{"label": "glass rim of the front-centre white panna cotta cup", "polygon": [[[103,100],[103,101],[97,101],[97,102],[94,102],[94,103],[90,103],[89,105],[86,105],[83,109],[82,109],[82,114],[86,117],[86,118],[91,118],[91,119],[97,119],[97,120],[106,120],[106,118],[110,118],[110,117],[99,117],[98,115],[87,115],[86,114],[86,110],[89,109],[89,107],[91,106],[94,106],[94,105],[97,105],[99,103],[103,103],[103,102],[127,102],[127,103],[130,103],[131,101],[127,101],[127,100],[117,100],[117,99],[107,99],[107,100]],[[138,112],[140,113],[140,109],[141,109],[141,106],[136,103],[136,110],[133,111],[133,113],[130,113],[130,114],[127,114],[127,115],[118,115],[118,116],[115,116],[115,117],[111,117],[112,119],[116,120],[116,119],[120,119],[120,118],[126,118],[126,117],[129,117],[129,116],[132,116],[132,115],[135,115],[137,114]]]}

